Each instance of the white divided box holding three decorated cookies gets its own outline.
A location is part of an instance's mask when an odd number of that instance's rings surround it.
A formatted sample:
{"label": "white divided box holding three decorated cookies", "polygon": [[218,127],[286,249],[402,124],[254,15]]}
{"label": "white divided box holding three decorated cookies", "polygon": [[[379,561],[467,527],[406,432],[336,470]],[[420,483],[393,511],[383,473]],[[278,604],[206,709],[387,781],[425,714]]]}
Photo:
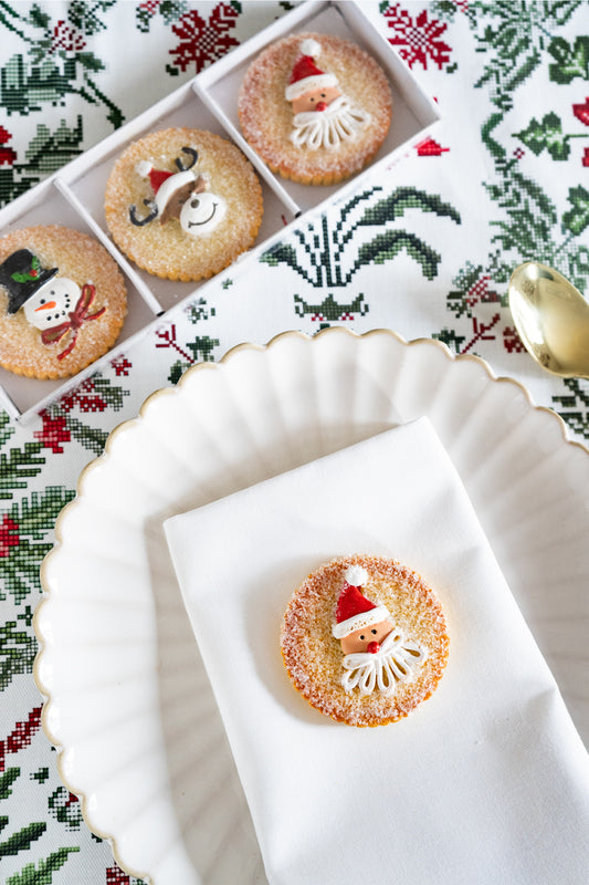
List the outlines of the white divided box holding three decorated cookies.
{"label": "white divided box holding three decorated cookies", "polygon": [[[341,186],[297,185],[274,175],[248,145],[239,128],[238,92],[248,65],[270,43],[306,30],[343,37],[360,45],[385,70],[392,92],[393,118],[383,146],[371,164]],[[369,21],[361,3],[351,0],[302,3],[0,210],[0,236],[18,228],[48,223],[94,236],[119,266],[128,293],[128,314],[123,332],[107,354],[65,382],[25,378],[0,368],[0,406],[14,418],[24,419],[36,414],[52,399],[125,352],[135,336],[156,324],[158,317],[171,308],[188,302],[197,289],[210,282],[181,283],[152,277],[127,260],[112,241],[104,215],[104,194],[115,160],[132,142],[170,126],[209,129],[232,140],[253,164],[264,191],[262,227],[254,248],[246,253],[255,260],[274,240],[299,225],[302,216],[320,211],[327,202],[349,194],[358,187],[359,179],[391,163],[411,144],[423,140],[439,118],[434,101],[423,92],[409,67]]]}

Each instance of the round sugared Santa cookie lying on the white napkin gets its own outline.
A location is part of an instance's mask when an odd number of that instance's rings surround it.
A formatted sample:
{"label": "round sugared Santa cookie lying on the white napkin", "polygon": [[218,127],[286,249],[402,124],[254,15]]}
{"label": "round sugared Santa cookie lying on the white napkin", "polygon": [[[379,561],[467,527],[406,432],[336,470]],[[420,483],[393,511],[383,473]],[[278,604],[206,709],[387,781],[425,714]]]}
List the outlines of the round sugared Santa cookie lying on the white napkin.
{"label": "round sugared Santa cookie lying on the white napkin", "polygon": [[449,638],[440,602],[416,572],[377,556],[336,559],[294,593],[281,647],[295,688],[354,726],[407,716],[442,677]]}

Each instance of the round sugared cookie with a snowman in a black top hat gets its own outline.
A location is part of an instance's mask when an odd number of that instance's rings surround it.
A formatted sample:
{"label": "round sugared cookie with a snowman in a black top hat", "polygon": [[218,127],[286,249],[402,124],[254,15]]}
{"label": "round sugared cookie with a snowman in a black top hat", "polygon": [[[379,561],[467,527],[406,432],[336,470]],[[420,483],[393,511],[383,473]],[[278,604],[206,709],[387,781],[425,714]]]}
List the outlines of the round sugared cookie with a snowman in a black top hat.
{"label": "round sugared cookie with a snowman in a black top hat", "polygon": [[97,240],[57,225],[0,239],[0,365],[63,378],[106,353],[127,312],[123,274]]}

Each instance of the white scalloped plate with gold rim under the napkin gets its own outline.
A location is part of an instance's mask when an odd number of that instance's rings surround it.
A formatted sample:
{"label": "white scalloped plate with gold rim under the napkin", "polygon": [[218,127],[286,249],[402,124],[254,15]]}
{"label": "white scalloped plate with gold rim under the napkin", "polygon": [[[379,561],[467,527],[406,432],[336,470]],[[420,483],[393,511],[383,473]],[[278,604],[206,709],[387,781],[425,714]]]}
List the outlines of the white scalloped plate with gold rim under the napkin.
{"label": "white scalloped plate with gold rim under the napkin", "polygon": [[243,345],[113,431],[43,564],[44,727],[127,872],[155,885],[265,882],[162,521],[420,415],[589,737],[589,458],[560,418],[432,341],[330,329]]}

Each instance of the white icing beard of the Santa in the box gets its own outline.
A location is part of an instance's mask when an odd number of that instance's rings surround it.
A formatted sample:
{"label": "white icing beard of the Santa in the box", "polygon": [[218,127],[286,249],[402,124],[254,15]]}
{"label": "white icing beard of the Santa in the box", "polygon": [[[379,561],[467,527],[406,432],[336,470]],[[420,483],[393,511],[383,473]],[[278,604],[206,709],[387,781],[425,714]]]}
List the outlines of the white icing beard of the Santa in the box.
{"label": "white icing beard of the Santa in the box", "polygon": [[293,117],[291,138],[297,147],[317,150],[334,149],[341,142],[356,138],[358,132],[370,121],[370,114],[350,104],[345,95],[335,98],[325,111],[303,111]]}

